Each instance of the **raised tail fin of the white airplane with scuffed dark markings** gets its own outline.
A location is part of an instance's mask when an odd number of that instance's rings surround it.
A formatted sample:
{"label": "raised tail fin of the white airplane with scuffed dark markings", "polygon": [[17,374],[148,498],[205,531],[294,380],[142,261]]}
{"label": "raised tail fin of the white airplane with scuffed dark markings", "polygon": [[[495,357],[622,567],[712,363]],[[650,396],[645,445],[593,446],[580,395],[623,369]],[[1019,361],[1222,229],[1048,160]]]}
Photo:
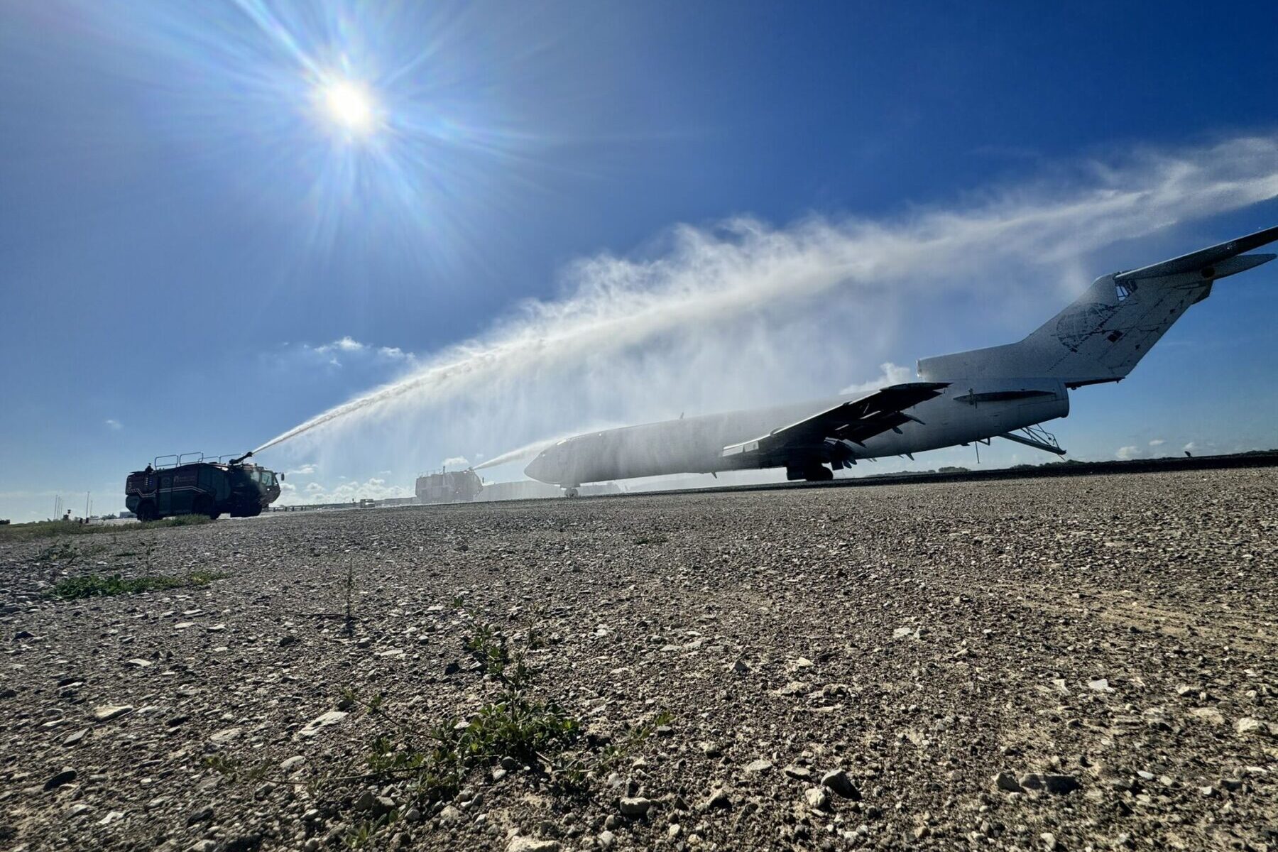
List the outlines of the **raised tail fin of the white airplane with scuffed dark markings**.
{"label": "raised tail fin of the white airplane with scuffed dark markings", "polygon": [[1213,282],[1278,257],[1242,254],[1274,240],[1278,227],[1102,276],[1025,340],[924,358],[919,377],[928,382],[1042,377],[1062,379],[1070,387],[1117,382],[1190,305],[1212,294]]}

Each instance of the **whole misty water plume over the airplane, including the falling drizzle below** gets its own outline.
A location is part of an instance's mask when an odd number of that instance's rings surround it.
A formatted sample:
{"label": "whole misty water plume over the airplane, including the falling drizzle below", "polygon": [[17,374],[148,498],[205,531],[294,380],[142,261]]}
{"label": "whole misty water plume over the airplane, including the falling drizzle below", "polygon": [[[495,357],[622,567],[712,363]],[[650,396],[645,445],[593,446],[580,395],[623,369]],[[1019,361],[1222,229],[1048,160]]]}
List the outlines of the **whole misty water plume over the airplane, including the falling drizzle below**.
{"label": "whole misty water plume over the airplane, including the falling drizzle below", "polygon": [[[671,409],[677,416],[674,406],[688,400],[774,399],[817,374],[865,376],[874,363],[865,359],[881,355],[907,312],[965,299],[1042,316],[1045,287],[1091,277],[1081,264],[1089,253],[1274,197],[1278,139],[1247,137],[1076,164],[886,220],[680,225],[640,257],[573,263],[562,296],[524,303],[487,333],[420,356],[399,381],[259,450],[317,427],[376,423],[403,447],[427,424],[452,441],[474,441],[482,424],[510,446]],[[881,382],[902,369],[883,368]]]}

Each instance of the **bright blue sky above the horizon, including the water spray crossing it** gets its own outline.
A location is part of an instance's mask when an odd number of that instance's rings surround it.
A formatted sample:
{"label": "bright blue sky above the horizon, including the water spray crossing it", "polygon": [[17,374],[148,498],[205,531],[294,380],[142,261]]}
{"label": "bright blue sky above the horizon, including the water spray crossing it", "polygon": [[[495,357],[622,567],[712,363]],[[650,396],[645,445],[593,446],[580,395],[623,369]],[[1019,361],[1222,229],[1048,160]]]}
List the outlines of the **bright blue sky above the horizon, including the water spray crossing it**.
{"label": "bright blue sky above the horizon, including the water spray crossing it", "polygon": [[[118,510],[152,456],[243,451],[422,370],[443,378],[265,452],[299,471],[286,497],[1016,339],[1097,275],[1278,224],[1275,23],[4,4],[0,517]],[[331,120],[334,80],[373,132]],[[1051,428],[1084,459],[1278,445],[1275,308],[1272,267],[1222,282]]]}

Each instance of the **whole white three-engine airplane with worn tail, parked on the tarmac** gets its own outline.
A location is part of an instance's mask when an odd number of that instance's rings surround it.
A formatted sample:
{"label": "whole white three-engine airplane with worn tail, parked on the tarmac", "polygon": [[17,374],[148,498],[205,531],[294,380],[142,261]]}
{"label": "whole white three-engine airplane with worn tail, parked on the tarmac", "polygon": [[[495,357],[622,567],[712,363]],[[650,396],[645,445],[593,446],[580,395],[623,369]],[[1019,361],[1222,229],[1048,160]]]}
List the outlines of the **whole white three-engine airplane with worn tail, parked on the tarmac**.
{"label": "whole white three-engine airplane with worn tail, parked on the tarmac", "polygon": [[1274,240],[1278,226],[1102,276],[1019,342],[919,360],[916,382],[588,432],[547,447],[524,473],[576,497],[583,483],[764,468],[822,482],[859,459],[912,460],[992,438],[1063,456],[1042,424],[1068,415],[1070,391],[1122,381],[1215,281],[1278,257],[1245,254]]}

